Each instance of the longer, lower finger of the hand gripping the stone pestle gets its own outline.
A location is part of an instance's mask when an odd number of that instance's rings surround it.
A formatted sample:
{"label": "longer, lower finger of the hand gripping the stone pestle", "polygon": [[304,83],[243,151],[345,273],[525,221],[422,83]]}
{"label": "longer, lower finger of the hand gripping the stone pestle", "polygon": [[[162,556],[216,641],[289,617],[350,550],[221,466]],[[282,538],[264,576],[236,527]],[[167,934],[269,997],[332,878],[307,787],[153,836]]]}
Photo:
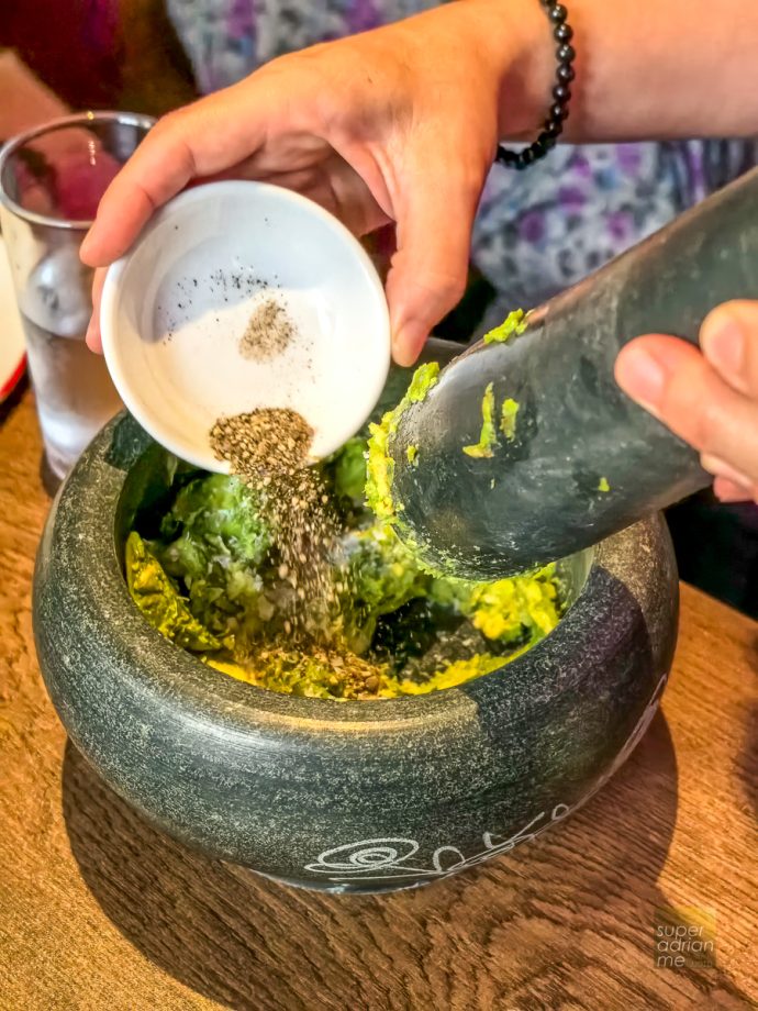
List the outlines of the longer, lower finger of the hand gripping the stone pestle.
{"label": "longer, lower finger of the hand gripping the stone pestle", "polygon": [[758,480],[758,403],[737,392],[696,347],[646,336],[623,348],[616,381],[701,453]]}

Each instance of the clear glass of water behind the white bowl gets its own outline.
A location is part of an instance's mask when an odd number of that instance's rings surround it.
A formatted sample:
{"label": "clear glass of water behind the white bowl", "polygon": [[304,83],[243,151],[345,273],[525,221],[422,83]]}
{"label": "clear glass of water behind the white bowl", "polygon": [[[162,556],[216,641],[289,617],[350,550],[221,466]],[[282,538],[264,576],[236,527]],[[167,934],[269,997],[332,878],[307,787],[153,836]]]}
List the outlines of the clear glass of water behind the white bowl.
{"label": "clear glass of water behind the white bowl", "polygon": [[148,116],[65,116],[0,151],[0,227],[26,335],[47,465],[64,478],[121,409],[105,362],[85,344],[92,271],[79,246],[108,184],[153,125]]}

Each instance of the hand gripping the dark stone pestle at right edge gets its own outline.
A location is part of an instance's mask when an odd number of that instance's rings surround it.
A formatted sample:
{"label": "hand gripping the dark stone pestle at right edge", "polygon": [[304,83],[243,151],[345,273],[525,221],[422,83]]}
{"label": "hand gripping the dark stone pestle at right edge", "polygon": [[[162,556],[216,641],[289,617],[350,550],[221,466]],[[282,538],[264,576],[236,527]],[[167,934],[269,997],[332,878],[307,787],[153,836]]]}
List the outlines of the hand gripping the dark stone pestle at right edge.
{"label": "hand gripping the dark stone pestle at right edge", "polygon": [[726,302],[700,331],[700,349],[648,335],[627,344],[616,381],[700,451],[723,502],[758,497],[758,302]]}

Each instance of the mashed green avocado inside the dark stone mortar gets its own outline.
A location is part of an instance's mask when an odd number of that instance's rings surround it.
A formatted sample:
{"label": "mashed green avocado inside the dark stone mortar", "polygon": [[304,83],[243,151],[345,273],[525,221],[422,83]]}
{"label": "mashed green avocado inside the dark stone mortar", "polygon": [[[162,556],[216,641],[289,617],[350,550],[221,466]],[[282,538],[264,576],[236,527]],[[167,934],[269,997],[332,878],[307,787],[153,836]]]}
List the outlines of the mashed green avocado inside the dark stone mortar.
{"label": "mashed green avocado inside the dark stone mortar", "polygon": [[[436,374],[425,375],[430,389]],[[421,385],[413,396],[423,396]],[[391,429],[390,420],[382,431]],[[145,620],[209,677],[213,668],[258,689],[332,701],[455,688],[544,638],[564,611],[555,568],[483,584],[425,571],[367,508],[370,452],[356,437],[319,465],[336,524],[327,645],[291,627],[294,590],[256,493],[235,477],[190,468],[178,469],[159,507],[137,513],[124,546],[129,591]]]}

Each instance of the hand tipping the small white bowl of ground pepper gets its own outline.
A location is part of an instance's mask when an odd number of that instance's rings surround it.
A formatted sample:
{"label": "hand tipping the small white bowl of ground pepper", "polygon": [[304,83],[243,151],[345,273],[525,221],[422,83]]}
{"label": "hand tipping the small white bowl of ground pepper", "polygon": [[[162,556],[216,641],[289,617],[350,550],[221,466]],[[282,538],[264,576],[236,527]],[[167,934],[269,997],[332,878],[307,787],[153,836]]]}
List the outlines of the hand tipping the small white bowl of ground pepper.
{"label": "hand tipping the small white bowl of ground pepper", "polygon": [[[153,212],[192,182],[286,186],[357,235],[394,223],[387,278],[393,353],[412,364],[465,289],[473,215],[503,125],[501,91],[519,62],[531,58],[523,56],[528,32],[549,37],[538,4],[524,9],[505,21],[491,0],[445,5],[285,56],[169,114],[104,195],[82,258],[111,264]],[[545,95],[534,111],[514,85],[512,133],[532,130],[544,115],[549,47],[545,53]],[[99,271],[88,334],[96,349],[101,287]]]}

